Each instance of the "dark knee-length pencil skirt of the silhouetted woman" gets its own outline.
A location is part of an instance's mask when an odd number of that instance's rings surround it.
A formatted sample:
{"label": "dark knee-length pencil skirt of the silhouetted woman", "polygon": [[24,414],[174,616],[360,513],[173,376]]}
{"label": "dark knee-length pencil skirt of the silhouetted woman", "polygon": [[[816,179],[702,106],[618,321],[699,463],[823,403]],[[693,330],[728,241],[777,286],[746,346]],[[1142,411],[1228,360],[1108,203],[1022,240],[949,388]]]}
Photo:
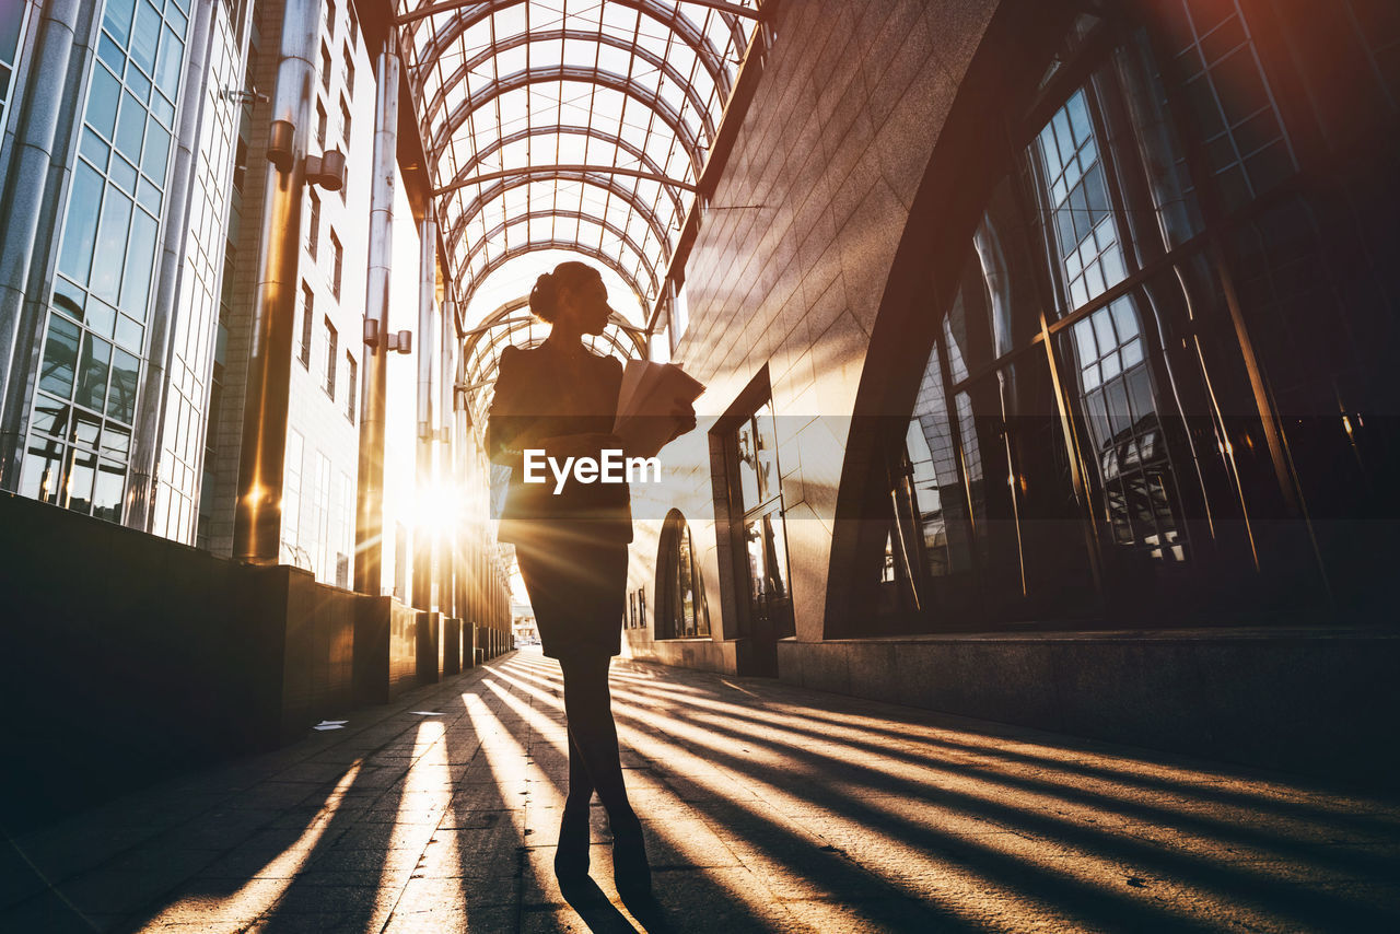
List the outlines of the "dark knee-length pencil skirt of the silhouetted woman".
{"label": "dark knee-length pencil skirt of the silhouetted woman", "polygon": [[627,545],[575,529],[515,542],[540,647],[550,658],[622,651]]}

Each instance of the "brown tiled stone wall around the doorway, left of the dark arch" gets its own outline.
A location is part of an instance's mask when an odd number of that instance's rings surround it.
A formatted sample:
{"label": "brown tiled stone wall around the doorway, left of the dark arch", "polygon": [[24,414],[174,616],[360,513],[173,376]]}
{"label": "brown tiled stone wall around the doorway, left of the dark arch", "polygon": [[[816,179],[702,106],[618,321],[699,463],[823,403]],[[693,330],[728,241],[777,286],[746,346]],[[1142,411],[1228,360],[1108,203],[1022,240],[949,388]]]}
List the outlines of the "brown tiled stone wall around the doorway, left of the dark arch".
{"label": "brown tiled stone wall around the doorway, left of the dark arch", "polygon": [[[720,599],[721,573],[732,574],[721,569],[729,559],[715,538],[706,428],[764,364],[797,636],[823,634],[836,492],[869,329],[939,126],[994,7],[830,0],[778,13],[686,265],[690,322],[675,358],[708,386],[700,430],[664,456],[671,504],[703,555],[717,639],[738,630],[732,598]],[[650,587],[664,510],[637,514],[651,521],[638,522],[629,585]],[[742,599],[746,581],[734,584]]]}

